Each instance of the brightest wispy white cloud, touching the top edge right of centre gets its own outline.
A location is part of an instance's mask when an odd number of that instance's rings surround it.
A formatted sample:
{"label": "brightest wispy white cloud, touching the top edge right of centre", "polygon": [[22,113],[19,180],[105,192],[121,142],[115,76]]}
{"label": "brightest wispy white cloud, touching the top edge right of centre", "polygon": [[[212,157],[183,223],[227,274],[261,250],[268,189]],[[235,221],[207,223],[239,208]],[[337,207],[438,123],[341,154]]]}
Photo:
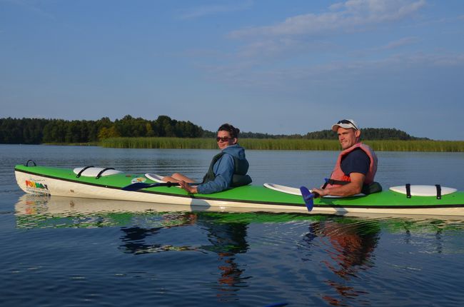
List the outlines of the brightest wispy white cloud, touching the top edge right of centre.
{"label": "brightest wispy white cloud, touching the top edge right of centre", "polygon": [[[331,42],[331,38],[370,31],[375,25],[407,19],[425,4],[425,0],[341,1],[318,14],[301,14],[288,17],[278,24],[239,29],[229,33],[228,37],[246,42],[236,52],[242,59],[257,57],[263,61],[296,53],[333,52],[338,46]],[[377,51],[398,48],[415,41],[418,39],[407,37],[390,42]]]}

